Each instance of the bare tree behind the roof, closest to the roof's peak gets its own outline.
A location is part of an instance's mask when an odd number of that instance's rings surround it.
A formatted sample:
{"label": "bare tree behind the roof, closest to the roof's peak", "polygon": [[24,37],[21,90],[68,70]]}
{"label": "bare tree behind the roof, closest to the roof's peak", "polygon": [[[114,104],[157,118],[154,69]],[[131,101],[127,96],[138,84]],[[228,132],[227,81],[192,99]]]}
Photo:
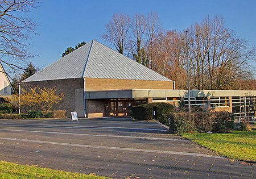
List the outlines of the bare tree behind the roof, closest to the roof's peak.
{"label": "bare tree behind the roof, closest to the roof's peak", "polygon": [[109,23],[105,25],[105,34],[102,38],[114,45],[117,51],[123,54],[128,43],[130,31],[130,18],[124,14],[114,14]]}

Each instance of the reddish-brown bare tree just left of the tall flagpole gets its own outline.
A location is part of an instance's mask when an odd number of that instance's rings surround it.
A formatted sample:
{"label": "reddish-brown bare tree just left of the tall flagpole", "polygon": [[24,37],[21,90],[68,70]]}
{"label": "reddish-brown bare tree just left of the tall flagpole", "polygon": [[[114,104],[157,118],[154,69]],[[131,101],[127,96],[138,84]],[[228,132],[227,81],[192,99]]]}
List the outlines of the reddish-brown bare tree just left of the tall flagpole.
{"label": "reddish-brown bare tree just left of the tall flagpole", "polygon": [[187,87],[185,37],[177,31],[166,31],[158,35],[154,45],[156,72],[176,82],[176,89]]}

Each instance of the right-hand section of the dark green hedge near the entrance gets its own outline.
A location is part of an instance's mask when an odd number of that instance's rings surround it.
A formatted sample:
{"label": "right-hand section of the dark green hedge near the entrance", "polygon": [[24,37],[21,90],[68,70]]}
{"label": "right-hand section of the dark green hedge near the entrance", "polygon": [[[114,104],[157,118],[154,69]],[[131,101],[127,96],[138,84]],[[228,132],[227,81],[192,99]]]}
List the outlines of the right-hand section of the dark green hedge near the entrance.
{"label": "right-hand section of the dark green hedge near the entrance", "polygon": [[153,110],[155,110],[154,119],[166,126],[169,126],[169,115],[170,113],[175,112],[174,106],[164,102],[150,103],[149,105],[153,106]]}

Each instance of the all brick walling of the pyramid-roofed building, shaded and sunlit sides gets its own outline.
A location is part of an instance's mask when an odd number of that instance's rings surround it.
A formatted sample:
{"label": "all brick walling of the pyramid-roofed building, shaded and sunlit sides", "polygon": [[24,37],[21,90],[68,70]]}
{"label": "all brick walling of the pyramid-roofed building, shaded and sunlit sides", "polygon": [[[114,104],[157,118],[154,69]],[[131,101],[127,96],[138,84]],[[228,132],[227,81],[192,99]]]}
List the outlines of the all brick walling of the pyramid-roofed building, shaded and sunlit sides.
{"label": "all brick walling of the pyramid-roofed building, shaded and sunlit sides", "polygon": [[[143,81],[143,80],[118,80],[118,79],[101,79],[101,78],[86,78],[86,90],[116,90],[116,89],[172,89],[172,81]],[[83,78],[64,79],[64,80],[49,80],[36,82],[23,82],[21,85],[39,86],[40,88],[56,87],[58,93],[64,93],[63,100],[60,104],[53,106],[52,110],[66,110],[69,116],[71,111],[81,111],[79,116],[83,114],[83,104],[80,98],[82,93],[78,93],[84,88]],[[77,94],[77,95],[76,95]],[[79,95],[78,95],[79,94]],[[80,97],[81,95],[81,97]],[[104,115],[105,101],[88,100],[89,117]]]}

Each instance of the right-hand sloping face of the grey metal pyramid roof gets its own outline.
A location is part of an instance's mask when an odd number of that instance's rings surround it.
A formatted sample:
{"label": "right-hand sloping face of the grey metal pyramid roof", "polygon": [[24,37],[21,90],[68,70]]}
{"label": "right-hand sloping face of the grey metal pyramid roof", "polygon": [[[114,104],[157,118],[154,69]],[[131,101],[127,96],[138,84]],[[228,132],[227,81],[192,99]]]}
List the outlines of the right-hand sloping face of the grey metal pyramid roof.
{"label": "right-hand sloping face of the grey metal pyramid roof", "polygon": [[171,81],[96,40],[93,40],[84,77]]}

